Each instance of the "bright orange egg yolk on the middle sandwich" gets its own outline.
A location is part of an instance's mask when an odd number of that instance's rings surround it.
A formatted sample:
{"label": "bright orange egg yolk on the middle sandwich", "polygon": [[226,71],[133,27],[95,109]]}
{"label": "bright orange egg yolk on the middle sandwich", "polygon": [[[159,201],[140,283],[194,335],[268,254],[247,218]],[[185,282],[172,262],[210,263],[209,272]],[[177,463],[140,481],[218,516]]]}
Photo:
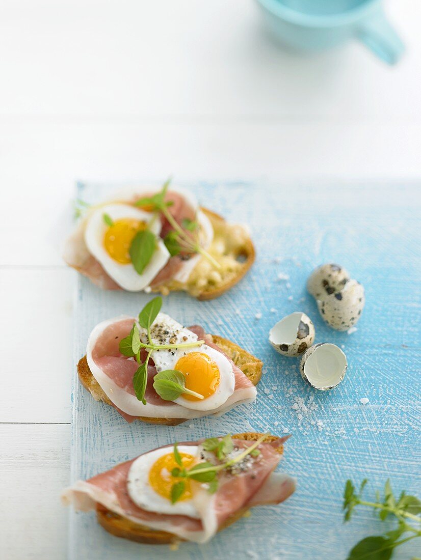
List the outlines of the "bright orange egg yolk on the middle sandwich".
{"label": "bright orange egg yolk on the middle sandwich", "polygon": [[[191,352],[180,358],[175,370],[186,376],[186,388],[203,395],[205,399],[215,393],[219,386],[219,368],[207,354]],[[183,394],[187,400],[201,400],[197,396]]]}

